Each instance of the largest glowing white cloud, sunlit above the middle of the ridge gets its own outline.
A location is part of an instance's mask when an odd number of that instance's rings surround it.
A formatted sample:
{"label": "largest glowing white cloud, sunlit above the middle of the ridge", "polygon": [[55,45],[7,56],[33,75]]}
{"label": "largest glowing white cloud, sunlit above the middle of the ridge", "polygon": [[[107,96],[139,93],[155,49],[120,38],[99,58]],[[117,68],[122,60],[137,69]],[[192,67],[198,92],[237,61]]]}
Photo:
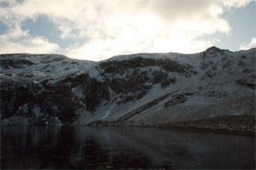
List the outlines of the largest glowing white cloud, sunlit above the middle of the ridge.
{"label": "largest glowing white cloud, sunlit above the middle of the ridge", "polygon": [[[6,26],[19,27],[26,19],[46,15],[61,31],[62,39],[85,38],[86,42],[59,49],[45,37],[49,51],[80,59],[100,60],[116,54],[140,52],[195,53],[212,46],[203,35],[231,31],[221,18],[224,10],[241,8],[250,0],[15,0],[1,8]],[[22,31],[20,32],[22,33]],[[23,32],[24,33],[24,32]],[[10,35],[10,34],[8,34]],[[6,35],[6,36],[8,36]],[[28,38],[29,35],[26,35]],[[10,39],[6,38],[9,43]],[[11,42],[11,41],[10,41]],[[14,41],[13,41],[14,42]],[[28,43],[19,42],[24,48]],[[29,47],[32,47],[30,44]],[[2,48],[0,48],[2,49]],[[10,50],[11,51],[11,50]]]}

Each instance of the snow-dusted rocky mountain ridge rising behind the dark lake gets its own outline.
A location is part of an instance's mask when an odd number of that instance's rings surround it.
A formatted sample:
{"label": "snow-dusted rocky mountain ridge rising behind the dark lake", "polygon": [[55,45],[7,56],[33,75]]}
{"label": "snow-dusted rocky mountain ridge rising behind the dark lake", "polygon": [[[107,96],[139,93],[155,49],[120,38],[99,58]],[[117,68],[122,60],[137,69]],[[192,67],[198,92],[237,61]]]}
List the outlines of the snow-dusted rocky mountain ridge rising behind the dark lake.
{"label": "snow-dusted rocky mountain ridge rising behind the dark lake", "polygon": [[256,48],[99,62],[1,54],[1,125],[255,129]]}

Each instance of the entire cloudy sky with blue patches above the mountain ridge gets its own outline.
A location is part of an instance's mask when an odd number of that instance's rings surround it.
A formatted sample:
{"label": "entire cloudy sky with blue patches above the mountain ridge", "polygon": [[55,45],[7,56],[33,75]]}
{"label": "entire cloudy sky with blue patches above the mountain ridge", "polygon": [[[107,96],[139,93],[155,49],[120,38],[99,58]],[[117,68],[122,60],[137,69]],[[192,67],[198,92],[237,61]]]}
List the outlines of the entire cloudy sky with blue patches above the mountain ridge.
{"label": "entire cloudy sky with blue patches above the mountain ridge", "polygon": [[102,60],[256,47],[255,0],[0,0],[0,54]]}

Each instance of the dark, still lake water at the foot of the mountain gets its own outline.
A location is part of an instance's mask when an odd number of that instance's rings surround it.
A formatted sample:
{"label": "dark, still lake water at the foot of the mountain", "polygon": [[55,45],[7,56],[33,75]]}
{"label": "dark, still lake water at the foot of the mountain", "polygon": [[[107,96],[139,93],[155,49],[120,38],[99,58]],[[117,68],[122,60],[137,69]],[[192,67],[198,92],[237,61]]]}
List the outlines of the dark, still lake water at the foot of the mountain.
{"label": "dark, still lake water at the foot of the mountain", "polygon": [[145,127],[1,127],[1,168],[254,168],[255,139]]}

